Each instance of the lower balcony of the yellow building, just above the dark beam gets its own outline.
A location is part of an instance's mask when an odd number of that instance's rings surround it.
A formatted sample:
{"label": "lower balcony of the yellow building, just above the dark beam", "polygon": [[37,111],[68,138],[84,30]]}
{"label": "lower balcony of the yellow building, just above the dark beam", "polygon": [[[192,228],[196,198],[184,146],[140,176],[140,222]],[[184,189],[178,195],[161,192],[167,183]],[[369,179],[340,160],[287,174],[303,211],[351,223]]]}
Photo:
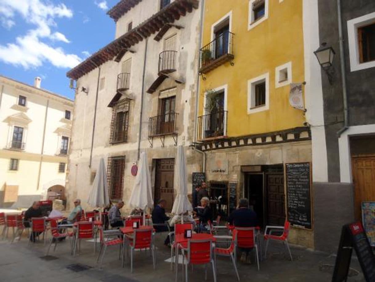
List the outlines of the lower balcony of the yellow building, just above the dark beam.
{"label": "lower balcony of the yellow building, just above the dark beam", "polygon": [[227,111],[217,111],[208,115],[198,116],[198,140],[225,137],[227,116]]}

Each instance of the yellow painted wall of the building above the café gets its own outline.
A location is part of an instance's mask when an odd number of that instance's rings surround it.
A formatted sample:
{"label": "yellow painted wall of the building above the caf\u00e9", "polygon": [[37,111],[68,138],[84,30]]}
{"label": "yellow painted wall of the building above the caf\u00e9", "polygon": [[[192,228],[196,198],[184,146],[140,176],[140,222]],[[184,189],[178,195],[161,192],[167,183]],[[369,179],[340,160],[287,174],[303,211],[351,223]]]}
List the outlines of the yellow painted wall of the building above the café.
{"label": "yellow painted wall of the building above the caf\u00e9", "polygon": [[[275,68],[292,63],[293,83],[304,81],[302,1],[268,1],[268,18],[248,30],[249,1],[206,0],[202,44],[211,41],[211,26],[232,12],[234,66],[229,62],[201,78],[199,115],[206,89],[227,84],[227,136],[267,133],[303,126],[302,110],[289,104],[290,86],[275,87]],[[269,72],[269,110],[247,112],[248,80]]]}

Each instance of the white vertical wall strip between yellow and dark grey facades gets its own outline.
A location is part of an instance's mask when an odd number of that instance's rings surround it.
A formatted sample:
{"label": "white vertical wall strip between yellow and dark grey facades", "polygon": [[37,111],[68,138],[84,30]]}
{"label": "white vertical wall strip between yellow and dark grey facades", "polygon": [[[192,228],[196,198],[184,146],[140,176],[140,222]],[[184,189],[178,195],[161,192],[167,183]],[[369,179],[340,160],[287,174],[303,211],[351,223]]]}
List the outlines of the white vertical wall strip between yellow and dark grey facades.
{"label": "white vertical wall strip between yellow and dark grey facades", "polygon": [[[318,0],[303,0],[306,121],[311,127],[312,181],[328,181],[321,68],[314,51],[319,47]],[[315,125],[315,126],[314,126]]]}

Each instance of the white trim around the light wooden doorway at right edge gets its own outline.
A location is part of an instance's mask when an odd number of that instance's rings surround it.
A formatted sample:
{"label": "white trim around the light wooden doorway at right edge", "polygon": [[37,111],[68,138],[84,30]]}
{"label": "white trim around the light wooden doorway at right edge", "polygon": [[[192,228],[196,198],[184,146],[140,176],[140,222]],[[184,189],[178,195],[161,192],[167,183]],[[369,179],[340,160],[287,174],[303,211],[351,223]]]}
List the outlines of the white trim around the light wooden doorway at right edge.
{"label": "white trim around the light wooden doorway at right edge", "polygon": [[351,126],[339,138],[340,182],[353,183],[349,137],[375,134],[375,124]]}

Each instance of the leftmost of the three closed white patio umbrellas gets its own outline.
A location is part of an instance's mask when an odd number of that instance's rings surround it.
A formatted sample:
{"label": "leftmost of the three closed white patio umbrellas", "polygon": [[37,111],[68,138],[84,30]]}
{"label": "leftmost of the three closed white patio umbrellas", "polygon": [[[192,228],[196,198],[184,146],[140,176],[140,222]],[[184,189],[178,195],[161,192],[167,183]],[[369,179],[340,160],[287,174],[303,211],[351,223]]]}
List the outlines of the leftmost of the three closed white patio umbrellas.
{"label": "leftmost of the three closed white patio umbrellas", "polygon": [[107,170],[105,169],[104,158],[100,159],[98,170],[96,171],[93,188],[87,199],[87,204],[93,208],[106,207],[110,204],[108,192]]}

